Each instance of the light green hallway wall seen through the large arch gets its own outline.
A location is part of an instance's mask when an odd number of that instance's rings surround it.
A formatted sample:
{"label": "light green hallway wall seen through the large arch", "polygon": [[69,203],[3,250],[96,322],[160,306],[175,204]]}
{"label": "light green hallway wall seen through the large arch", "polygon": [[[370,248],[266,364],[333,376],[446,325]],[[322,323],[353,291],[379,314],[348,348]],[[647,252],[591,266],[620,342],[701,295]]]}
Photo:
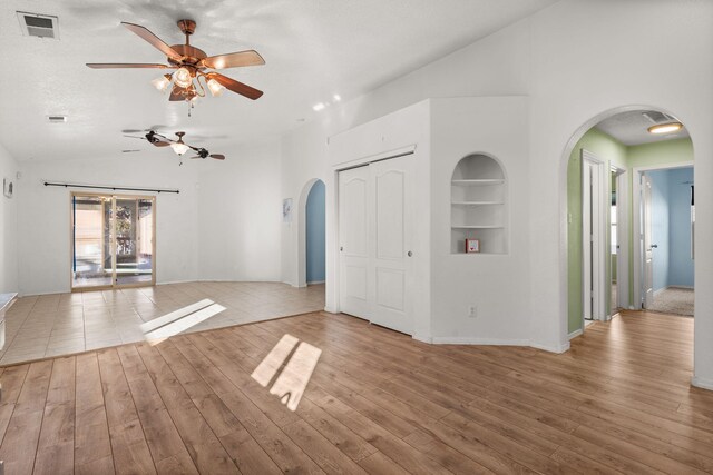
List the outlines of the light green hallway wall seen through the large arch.
{"label": "light green hallway wall seen through the large arch", "polygon": [[[654,144],[627,147],[613,137],[597,130],[589,129],[575,145],[567,164],[567,261],[568,261],[568,333],[582,329],[582,149],[586,149],[604,160],[605,169],[611,166],[625,169],[628,175],[628,267],[629,267],[629,299],[634,295],[634,226],[633,226],[633,169],[639,167],[656,167],[670,164],[693,161],[693,144],[691,139],[672,139]],[[606,190],[607,197],[611,192]],[[622,202],[624,197],[619,196]],[[607,210],[609,208],[607,207]],[[607,230],[609,229],[607,212]],[[606,249],[609,249],[609,235],[606,236]],[[612,266],[606,259],[606,273]],[[606,306],[609,311],[611,288],[606,289]],[[632,305],[632,301],[629,301]]]}

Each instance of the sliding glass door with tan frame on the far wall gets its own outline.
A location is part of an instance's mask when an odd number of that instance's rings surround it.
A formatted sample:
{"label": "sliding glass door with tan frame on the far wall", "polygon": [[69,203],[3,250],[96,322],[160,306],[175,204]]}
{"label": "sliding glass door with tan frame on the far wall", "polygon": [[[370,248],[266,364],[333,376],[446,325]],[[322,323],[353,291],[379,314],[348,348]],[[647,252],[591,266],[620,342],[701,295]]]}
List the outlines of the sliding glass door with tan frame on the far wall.
{"label": "sliding glass door with tan frame on the far wall", "polygon": [[155,198],[72,194],[71,287],[154,285]]}

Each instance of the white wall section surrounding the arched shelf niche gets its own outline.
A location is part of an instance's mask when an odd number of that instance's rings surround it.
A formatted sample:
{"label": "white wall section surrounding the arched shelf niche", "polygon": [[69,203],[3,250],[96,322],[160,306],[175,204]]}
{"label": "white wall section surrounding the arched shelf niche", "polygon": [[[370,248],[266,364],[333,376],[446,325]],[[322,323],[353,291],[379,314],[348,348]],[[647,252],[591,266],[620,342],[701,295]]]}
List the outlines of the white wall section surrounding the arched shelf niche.
{"label": "white wall section surrounding the arched shelf niche", "polygon": [[[431,102],[432,338],[437,343],[527,345],[527,98]],[[451,254],[451,179],[460,159],[471,154],[487,154],[504,168],[506,254]],[[470,306],[477,308],[476,318],[469,317]]]}

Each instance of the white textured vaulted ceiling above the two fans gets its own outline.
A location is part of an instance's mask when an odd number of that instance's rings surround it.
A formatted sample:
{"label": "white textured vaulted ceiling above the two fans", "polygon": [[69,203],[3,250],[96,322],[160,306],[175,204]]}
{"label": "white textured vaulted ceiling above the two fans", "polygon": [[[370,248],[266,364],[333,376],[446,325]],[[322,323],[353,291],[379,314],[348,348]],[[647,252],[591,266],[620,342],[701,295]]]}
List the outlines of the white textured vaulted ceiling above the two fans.
{"label": "white textured vaulted ceiling above the two fans", "polygon": [[[274,137],[310,120],[312,106],[355,98],[555,0],[3,0],[0,2],[0,142],[18,160],[109,158],[147,144],[123,130],[186,130],[213,152]],[[59,17],[59,40],[26,37],[16,11]],[[266,65],[227,69],[261,89],[225,92],[187,117],[150,80],[160,70],[92,70],[86,62],[165,62],[119,22],[182,43],[179,19],[197,22],[192,44],[208,56],[257,50]],[[67,123],[48,123],[67,115]],[[191,140],[203,136],[204,141]]]}

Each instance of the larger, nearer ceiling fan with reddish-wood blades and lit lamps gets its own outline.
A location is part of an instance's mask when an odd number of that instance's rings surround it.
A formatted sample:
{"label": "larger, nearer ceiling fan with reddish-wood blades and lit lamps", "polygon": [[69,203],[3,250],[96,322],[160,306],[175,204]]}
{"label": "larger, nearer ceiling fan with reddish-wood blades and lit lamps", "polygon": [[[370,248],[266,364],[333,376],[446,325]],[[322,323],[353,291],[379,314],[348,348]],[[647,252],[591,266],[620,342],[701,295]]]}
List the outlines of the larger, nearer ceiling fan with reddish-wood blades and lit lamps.
{"label": "larger, nearer ceiling fan with reddish-wood blades and lit lamps", "polygon": [[[174,72],[164,75],[152,81],[152,83],[160,91],[167,90],[173,82],[173,88],[168,98],[168,100],[172,101],[191,101],[197,97],[204,97],[205,87],[207,87],[212,96],[219,96],[224,89],[237,92],[238,95],[253,100],[263,95],[261,90],[228,78],[227,76],[223,76],[219,72],[205,72],[206,69],[225,69],[242,66],[264,65],[265,60],[255,50],[207,56],[203,50],[189,43],[191,34],[193,34],[196,29],[196,22],[193,20],[178,20],[178,28],[186,36],[186,43],[174,46],[166,44],[160,38],[139,24],[127,23],[124,21],[121,24],[166,55],[168,65],[88,62],[87,66],[89,68],[175,69]],[[205,87],[201,82],[201,79],[205,82]]]}

